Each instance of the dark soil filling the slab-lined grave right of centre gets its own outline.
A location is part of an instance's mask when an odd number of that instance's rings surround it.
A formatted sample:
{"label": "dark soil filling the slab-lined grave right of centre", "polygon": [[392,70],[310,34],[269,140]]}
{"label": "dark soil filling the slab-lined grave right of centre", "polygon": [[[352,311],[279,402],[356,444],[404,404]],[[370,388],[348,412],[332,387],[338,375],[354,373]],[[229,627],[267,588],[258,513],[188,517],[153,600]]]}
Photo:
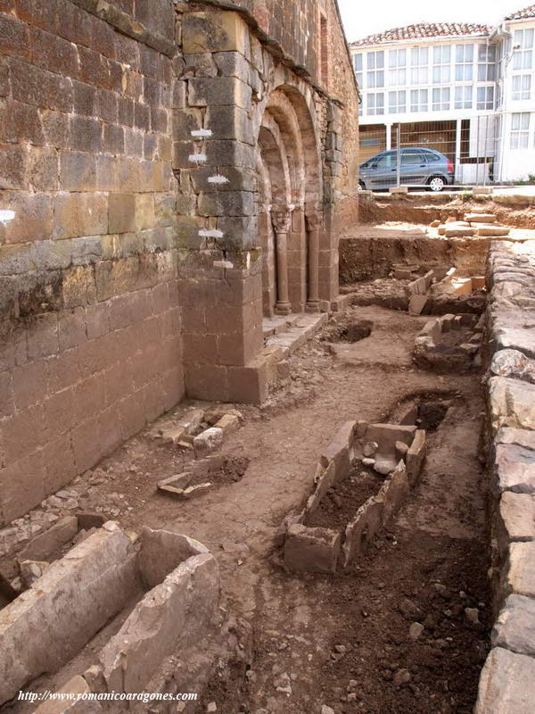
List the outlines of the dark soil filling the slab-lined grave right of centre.
{"label": "dark soil filling the slab-lined grave right of centre", "polygon": [[305,525],[342,532],[350,520],[355,518],[360,506],[377,494],[383,483],[384,477],[374,473],[373,469],[366,466],[353,469],[342,483],[327,491],[317,511],[309,515]]}

